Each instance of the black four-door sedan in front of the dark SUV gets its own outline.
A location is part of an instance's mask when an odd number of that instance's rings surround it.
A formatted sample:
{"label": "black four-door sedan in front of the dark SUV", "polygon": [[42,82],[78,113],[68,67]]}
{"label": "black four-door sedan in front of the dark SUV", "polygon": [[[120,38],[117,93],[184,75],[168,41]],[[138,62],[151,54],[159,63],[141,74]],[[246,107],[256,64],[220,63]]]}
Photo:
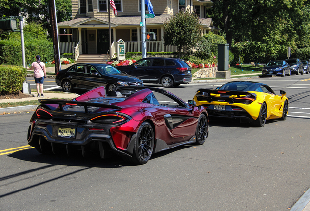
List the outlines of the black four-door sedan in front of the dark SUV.
{"label": "black four-door sedan in front of the dark SUV", "polygon": [[143,86],[143,81],[122,73],[111,65],[102,63],[77,63],[60,70],[55,78],[63,91],[73,89],[93,89],[105,86],[107,92],[117,86]]}

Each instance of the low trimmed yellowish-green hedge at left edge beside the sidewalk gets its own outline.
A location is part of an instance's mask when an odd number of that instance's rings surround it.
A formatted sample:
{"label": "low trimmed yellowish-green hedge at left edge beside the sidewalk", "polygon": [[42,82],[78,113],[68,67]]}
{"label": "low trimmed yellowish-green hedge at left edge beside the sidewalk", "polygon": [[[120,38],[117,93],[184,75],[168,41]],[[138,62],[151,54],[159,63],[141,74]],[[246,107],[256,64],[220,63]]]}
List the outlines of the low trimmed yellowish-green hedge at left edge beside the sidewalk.
{"label": "low trimmed yellowish-green hedge at left edge beside the sidewalk", "polygon": [[25,79],[25,68],[0,65],[0,93],[17,93],[21,91]]}

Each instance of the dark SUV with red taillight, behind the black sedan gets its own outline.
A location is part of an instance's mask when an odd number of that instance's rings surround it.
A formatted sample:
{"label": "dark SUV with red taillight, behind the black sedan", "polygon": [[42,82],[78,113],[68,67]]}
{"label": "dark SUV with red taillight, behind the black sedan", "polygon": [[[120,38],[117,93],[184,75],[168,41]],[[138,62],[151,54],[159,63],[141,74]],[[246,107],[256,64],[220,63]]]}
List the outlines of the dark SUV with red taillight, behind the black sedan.
{"label": "dark SUV with red taillight, behind the black sedan", "polygon": [[148,57],[116,68],[142,79],[144,83],[160,83],[166,88],[192,80],[191,67],[184,60],[177,58]]}

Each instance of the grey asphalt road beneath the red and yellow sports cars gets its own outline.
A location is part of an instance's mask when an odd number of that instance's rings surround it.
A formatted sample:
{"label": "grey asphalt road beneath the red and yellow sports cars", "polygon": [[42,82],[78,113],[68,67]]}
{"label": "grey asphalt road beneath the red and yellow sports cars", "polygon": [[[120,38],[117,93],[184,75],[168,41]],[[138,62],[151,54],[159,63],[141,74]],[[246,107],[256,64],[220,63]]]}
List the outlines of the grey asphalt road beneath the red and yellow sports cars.
{"label": "grey asphalt road beneath the red and yellow sports cars", "polygon": [[[288,210],[310,187],[310,74],[254,81],[287,92],[286,121],[267,121],[263,128],[210,122],[204,145],[158,153],[140,166],[118,157],[46,156],[18,148],[27,146],[31,113],[0,116],[0,210]],[[167,90],[187,101],[199,88],[224,83]]]}

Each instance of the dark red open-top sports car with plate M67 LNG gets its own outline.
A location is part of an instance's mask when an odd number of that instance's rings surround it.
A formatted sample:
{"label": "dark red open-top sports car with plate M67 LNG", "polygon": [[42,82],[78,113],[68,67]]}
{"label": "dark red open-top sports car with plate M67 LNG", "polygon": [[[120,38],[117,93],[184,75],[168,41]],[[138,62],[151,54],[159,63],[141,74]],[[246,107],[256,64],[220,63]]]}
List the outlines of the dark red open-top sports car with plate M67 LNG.
{"label": "dark red open-top sports car with plate M67 LNG", "polygon": [[30,120],[28,143],[40,153],[80,151],[145,164],[151,155],[184,144],[202,145],[208,114],[193,100],[150,87],[98,87],[67,100],[39,99]]}

